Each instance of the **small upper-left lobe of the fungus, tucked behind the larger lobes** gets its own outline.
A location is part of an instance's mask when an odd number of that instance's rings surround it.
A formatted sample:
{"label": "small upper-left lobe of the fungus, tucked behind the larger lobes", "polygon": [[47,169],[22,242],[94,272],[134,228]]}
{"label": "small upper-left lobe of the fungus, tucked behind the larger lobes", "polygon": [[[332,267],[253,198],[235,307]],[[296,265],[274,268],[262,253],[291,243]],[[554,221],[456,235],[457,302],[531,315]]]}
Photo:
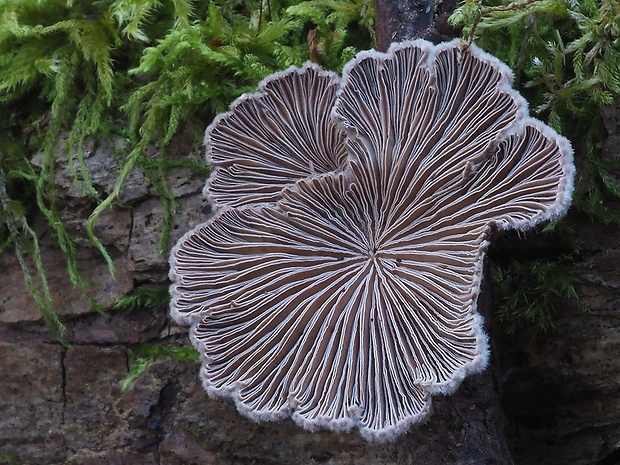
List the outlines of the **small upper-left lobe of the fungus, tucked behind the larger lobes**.
{"label": "small upper-left lobe of the fungus, tucked behind the larger lobes", "polygon": [[274,202],[300,178],[344,168],[344,134],[333,124],[340,78],[308,63],[268,77],[207,129],[216,205]]}

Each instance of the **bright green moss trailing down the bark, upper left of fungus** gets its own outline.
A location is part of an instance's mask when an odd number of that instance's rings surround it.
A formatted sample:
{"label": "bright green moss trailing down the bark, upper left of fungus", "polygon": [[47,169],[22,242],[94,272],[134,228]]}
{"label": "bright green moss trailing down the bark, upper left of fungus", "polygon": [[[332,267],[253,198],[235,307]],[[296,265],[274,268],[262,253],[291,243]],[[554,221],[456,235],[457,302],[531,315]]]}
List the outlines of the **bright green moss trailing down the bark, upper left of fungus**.
{"label": "bright green moss trailing down the bark, upper left of fungus", "polygon": [[[71,282],[85,295],[88,289],[55,200],[58,138],[68,135],[75,185],[96,205],[88,236],[114,273],[94,226],[118,201],[130,171],[142,169],[160,195],[163,252],[176,208],[165,181],[174,162],[165,148],[180,129],[203,131],[265,76],[307,61],[311,30],[315,58],[340,69],[372,45],[372,11],[366,0],[0,0],[0,252],[16,254],[56,336],[64,327],[52,308],[34,213],[43,214],[64,252]],[[82,150],[87,139],[119,125],[130,146],[112,192],[102,197]],[[160,149],[156,162],[145,153],[153,146]],[[30,161],[35,153],[43,154],[40,166]]]}

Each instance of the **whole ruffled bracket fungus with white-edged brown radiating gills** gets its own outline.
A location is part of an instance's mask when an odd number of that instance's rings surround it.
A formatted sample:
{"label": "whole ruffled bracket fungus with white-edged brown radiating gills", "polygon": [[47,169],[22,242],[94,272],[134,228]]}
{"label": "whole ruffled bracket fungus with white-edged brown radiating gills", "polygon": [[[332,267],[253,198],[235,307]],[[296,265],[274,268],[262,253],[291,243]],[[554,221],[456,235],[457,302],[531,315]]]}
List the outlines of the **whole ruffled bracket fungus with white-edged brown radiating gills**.
{"label": "whole ruffled bracket fungus with white-edged brown radiating gills", "polygon": [[562,216],[566,139],[458,40],[289,69],[206,135],[215,215],[174,247],[171,313],[209,394],[385,441],[484,369],[490,234]]}

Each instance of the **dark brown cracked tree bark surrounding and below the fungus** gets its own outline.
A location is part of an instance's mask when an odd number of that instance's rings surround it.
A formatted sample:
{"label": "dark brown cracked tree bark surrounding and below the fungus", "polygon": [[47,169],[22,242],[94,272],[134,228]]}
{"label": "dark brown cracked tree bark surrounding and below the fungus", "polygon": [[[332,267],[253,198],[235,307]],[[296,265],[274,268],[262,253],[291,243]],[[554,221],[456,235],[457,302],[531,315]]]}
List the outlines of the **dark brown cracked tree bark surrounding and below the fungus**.
{"label": "dark brown cracked tree bark surrounding and below the fungus", "polygon": [[[442,14],[435,11],[436,24]],[[610,108],[605,118],[604,150],[611,158],[618,156],[619,115],[618,107]],[[171,154],[202,158],[199,146],[175,144]],[[88,152],[86,164],[101,192],[112,188],[119,147],[120,140],[97,143]],[[171,324],[165,308],[110,310],[137,286],[167,286],[167,255],[157,252],[162,207],[153,186],[134,173],[122,193],[124,207],[98,222],[117,267],[111,280],[84,237],[92,205],[73,186],[62,159],[57,168],[59,204],[82,238],[80,265],[91,280],[90,295],[108,312],[95,313],[73,290],[62,255],[40,222],[55,307],[72,343],[61,346],[48,336],[14,257],[0,256],[0,463],[509,464],[505,424],[517,465],[620,462],[620,228],[588,218],[578,227],[586,259],[577,270],[579,295],[588,312],[567,309],[536,341],[492,344],[492,369],[468,378],[454,396],[435,397],[425,424],[395,443],[377,445],[355,432],[309,433],[291,421],[253,423],[230,402],[207,397],[198,365],[189,361],[162,357],[122,391],[136,344],[187,344],[186,330]],[[173,243],[204,221],[209,208],[202,176],[179,169],[169,182],[181,205]],[[485,290],[480,302],[487,322],[490,297]],[[496,334],[492,327],[487,331]]]}

